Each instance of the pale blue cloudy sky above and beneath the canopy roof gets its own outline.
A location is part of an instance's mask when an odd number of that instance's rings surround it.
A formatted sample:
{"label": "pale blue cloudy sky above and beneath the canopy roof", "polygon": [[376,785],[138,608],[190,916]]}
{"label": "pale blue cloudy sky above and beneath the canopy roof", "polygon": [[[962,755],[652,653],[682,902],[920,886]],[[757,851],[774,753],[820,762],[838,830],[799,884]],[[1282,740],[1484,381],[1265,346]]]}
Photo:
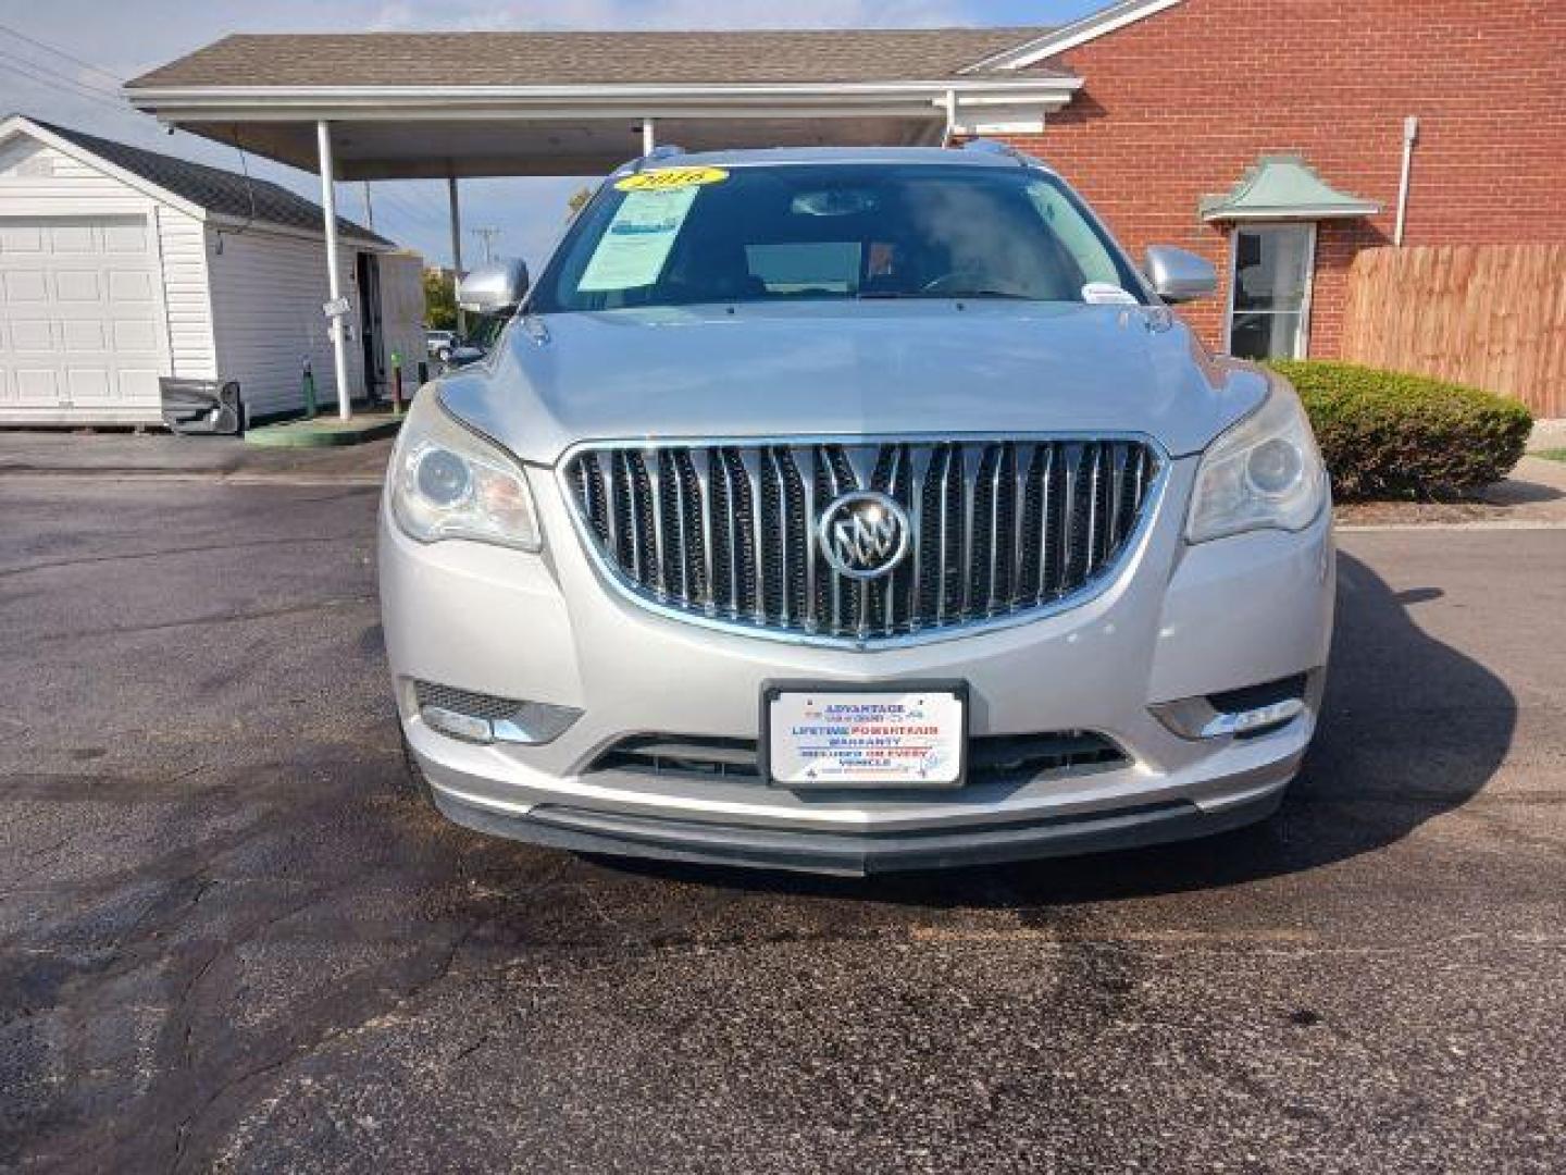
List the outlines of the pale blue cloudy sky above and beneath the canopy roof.
{"label": "pale blue cloudy sky above and beneath the canopy roof", "polygon": [[[166,133],[117,85],[229,33],[359,33],[570,28],[911,28],[1059,25],[1107,0],[0,0],[0,114],[36,114],[103,138],[240,171],[238,152]],[[319,180],[269,160],[251,174],[319,201]],[[543,262],[584,179],[462,182],[465,229],[500,229],[496,255]],[[365,222],[365,185],[337,191],[341,215]],[[440,180],[370,185],[376,230],[431,265],[451,260]],[[479,241],[462,243],[464,262]]]}

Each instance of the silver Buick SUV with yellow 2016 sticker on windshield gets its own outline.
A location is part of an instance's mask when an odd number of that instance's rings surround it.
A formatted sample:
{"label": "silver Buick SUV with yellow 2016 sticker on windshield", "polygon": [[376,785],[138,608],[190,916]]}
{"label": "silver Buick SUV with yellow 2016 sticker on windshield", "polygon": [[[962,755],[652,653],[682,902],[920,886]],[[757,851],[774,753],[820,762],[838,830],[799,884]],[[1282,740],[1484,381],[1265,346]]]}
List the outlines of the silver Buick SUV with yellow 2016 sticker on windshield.
{"label": "silver Buick SUV with yellow 2016 sticker on windshield", "polygon": [[470,827],[827,873],[1272,813],[1333,622],[1294,390],[1004,147],[659,152],[424,387],[381,511],[409,760]]}

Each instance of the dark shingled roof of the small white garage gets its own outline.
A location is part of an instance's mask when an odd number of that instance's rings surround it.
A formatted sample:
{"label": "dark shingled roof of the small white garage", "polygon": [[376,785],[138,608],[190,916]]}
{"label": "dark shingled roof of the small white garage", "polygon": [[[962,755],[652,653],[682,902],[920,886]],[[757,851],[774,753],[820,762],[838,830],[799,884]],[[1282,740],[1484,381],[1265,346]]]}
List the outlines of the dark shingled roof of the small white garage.
{"label": "dark shingled roof of the small white garage", "polygon": [[[153,183],[207,212],[238,219],[254,218],[263,224],[279,224],[288,229],[326,230],[326,216],[321,213],[319,204],[307,201],[304,196],[296,196],[268,180],[246,179],[238,172],[224,171],[222,168],[208,168],[204,163],[191,163],[174,155],[132,147],[125,143],[74,130],[72,127],[61,127],[31,116],[23,118],[33,125],[42,127],[67,143],[74,143],[83,150],[113,163],[116,168],[128,171],[132,175],[138,175],[147,180],[147,183]],[[354,237],[360,241],[395,248],[385,237],[373,233],[370,229],[354,224],[345,216],[337,218],[337,230],[345,237]]]}

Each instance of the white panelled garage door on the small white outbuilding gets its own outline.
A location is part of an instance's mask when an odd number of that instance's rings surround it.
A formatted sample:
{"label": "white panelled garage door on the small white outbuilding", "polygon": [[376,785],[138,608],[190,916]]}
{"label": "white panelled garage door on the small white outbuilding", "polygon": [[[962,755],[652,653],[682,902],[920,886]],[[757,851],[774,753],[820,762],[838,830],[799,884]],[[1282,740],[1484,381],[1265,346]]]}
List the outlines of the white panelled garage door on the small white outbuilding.
{"label": "white panelled garage door on the small white outbuilding", "polygon": [[0,218],[0,420],[158,418],[146,216]]}

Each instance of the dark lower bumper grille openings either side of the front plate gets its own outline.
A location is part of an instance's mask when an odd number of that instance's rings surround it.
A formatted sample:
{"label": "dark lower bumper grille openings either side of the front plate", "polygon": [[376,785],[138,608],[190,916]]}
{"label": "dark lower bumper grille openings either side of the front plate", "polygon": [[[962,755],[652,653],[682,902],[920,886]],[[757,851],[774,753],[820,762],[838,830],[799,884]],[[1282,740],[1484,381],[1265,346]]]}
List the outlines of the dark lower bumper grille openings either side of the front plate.
{"label": "dark lower bumper grille openings either side of the front plate", "polygon": [[[985,735],[968,741],[968,783],[1024,783],[1046,771],[1076,774],[1124,766],[1129,761],[1113,741],[1090,730]],[[587,769],[706,776],[736,783],[755,783],[761,777],[755,739],[691,735],[622,738]]]}

